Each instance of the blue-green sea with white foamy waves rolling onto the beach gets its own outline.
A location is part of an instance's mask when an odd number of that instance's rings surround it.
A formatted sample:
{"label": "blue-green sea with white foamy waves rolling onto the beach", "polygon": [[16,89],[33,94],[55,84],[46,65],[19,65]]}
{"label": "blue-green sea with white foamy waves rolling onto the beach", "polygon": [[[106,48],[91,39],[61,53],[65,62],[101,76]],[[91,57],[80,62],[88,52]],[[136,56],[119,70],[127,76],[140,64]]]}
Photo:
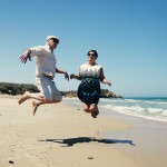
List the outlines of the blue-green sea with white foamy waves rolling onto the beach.
{"label": "blue-green sea with white foamy waves rolling onto the beach", "polygon": [[[81,107],[77,99],[69,100],[68,104]],[[167,121],[167,98],[101,98],[99,107],[125,115]]]}

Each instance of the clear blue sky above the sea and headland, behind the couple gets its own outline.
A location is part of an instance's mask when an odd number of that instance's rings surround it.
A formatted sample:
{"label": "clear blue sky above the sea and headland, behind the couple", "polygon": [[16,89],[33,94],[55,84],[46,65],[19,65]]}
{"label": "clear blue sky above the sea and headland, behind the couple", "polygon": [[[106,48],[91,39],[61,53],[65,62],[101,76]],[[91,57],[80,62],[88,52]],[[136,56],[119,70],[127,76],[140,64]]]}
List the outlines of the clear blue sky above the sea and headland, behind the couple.
{"label": "clear blue sky above the sea and headland, behind the couple", "polygon": [[[96,49],[116,95],[167,97],[167,0],[0,0],[0,81],[35,84],[35,59],[21,65],[30,47],[60,38],[57,66],[78,73]],[[55,79],[60,90],[79,81]]]}

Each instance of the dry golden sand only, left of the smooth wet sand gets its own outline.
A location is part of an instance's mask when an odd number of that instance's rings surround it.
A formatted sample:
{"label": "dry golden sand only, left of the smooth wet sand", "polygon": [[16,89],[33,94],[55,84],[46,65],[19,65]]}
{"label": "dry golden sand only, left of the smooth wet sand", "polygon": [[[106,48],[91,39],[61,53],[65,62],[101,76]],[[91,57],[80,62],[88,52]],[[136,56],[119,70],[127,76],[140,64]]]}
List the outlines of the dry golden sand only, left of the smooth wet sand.
{"label": "dry golden sand only, left of the smooth wet sand", "polygon": [[[132,130],[118,118],[97,119],[65,105],[45,105],[36,116],[31,101],[0,98],[0,167],[139,167],[144,161],[116,147],[121,140],[104,138],[107,131]],[[126,147],[132,147],[127,140]]]}

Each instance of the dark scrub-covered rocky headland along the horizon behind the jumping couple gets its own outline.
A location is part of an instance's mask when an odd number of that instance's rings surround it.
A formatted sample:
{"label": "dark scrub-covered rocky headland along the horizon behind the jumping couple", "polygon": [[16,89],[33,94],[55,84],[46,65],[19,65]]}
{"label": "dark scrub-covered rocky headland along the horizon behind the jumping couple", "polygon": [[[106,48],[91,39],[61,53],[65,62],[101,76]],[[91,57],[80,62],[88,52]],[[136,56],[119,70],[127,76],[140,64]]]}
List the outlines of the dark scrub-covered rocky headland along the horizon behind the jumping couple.
{"label": "dark scrub-covered rocky headland along the horizon behind the jumping couple", "polygon": [[[24,91],[39,92],[35,85],[0,82],[0,94],[22,95]],[[61,91],[65,97],[77,97],[77,91]],[[108,89],[101,89],[101,98],[121,98]]]}

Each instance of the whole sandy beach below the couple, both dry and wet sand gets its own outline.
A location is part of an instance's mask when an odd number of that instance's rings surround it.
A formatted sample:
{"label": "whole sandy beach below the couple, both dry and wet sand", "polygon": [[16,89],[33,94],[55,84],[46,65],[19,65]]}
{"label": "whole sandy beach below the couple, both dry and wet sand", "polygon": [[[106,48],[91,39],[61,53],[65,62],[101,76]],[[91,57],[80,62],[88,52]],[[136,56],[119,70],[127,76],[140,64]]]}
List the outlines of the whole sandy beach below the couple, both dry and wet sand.
{"label": "whole sandy beach below the couple, both dry and wet sand", "polygon": [[20,106],[17,101],[18,97],[0,97],[0,167],[165,167],[167,164],[165,122],[117,114],[94,119],[65,102],[41,106],[32,116],[30,100]]}

